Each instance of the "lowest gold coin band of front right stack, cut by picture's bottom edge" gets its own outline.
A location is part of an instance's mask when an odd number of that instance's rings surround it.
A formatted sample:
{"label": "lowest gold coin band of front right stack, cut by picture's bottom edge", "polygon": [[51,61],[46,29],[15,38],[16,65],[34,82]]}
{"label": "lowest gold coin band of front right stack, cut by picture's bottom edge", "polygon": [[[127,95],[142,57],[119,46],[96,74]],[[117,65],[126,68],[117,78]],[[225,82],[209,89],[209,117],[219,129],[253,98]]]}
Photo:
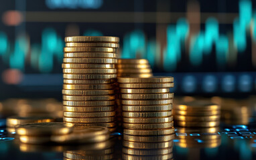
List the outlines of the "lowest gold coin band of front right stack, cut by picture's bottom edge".
{"label": "lowest gold coin band of front right stack, cut by picture's bottom edge", "polygon": [[172,159],[173,155],[172,153],[166,154],[166,155],[122,155],[123,159],[125,160],[167,160]]}

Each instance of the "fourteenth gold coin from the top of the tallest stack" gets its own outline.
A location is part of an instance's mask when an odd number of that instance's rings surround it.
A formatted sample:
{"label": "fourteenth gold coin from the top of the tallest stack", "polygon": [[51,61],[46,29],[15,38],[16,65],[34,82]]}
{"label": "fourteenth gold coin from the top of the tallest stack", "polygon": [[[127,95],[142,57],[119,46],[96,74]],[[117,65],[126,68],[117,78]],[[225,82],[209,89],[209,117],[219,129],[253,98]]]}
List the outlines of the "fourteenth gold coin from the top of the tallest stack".
{"label": "fourteenth gold coin from the top of the tallest stack", "polygon": [[115,106],[107,107],[70,107],[63,106],[63,111],[68,112],[104,112],[104,111],[115,111]]}

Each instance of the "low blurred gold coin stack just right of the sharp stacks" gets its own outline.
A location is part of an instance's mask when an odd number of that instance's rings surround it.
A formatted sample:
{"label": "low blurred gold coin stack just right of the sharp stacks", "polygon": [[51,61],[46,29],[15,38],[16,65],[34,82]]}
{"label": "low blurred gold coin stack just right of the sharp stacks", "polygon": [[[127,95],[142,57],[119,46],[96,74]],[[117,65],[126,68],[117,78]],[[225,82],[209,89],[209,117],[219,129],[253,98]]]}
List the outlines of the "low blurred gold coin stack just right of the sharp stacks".
{"label": "low blurred gold coin stack just right of the sharp stacks", "polygon": [[220,105],[197,100],[174,106],[174,119],[180,127],[216,127],[220,125]]}

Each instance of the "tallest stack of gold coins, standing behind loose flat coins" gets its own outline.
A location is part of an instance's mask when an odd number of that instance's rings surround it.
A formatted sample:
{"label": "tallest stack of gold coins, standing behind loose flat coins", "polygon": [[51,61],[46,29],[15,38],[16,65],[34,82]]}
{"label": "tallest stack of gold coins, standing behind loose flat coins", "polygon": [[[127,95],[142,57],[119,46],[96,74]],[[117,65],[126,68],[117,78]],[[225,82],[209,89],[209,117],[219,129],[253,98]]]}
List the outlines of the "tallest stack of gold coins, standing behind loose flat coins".
{"label": "tallest stack of gold coins, standing behind loose flat coins", "polygon": [[115,130],[118,37],[66,37],[62,90],[64,122]]}

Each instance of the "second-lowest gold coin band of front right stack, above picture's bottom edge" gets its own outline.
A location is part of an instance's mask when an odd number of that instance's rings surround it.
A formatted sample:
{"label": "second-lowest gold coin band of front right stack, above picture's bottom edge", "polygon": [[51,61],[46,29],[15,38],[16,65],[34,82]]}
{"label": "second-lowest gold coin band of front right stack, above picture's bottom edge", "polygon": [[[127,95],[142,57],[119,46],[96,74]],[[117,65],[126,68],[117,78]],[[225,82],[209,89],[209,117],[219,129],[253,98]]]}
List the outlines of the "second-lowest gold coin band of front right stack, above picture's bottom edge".
{"label": "second-lowest gold coin band of front right stack, above picture's bottom edge", "polygon": [[166,155],[172,153],[172,147],[166,149],[129,149],[123,147],[123,153],[127,155]]}

